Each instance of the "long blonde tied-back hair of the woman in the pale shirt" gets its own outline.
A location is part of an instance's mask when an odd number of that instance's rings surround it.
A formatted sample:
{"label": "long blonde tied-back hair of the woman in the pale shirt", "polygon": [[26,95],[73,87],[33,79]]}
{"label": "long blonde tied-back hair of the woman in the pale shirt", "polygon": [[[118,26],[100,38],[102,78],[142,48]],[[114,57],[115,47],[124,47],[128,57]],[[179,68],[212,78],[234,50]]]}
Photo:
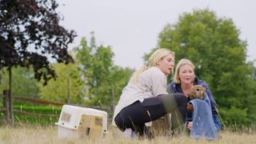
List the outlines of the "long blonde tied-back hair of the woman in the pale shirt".
{"label": "long blonde tied-back hair of the woman in the pale shirt", "polygon": [[148,70],[152,66],[156,66],[157,63],[165,58],[168,54],[172,54],[174,56],[174,52],[167,50],[165,48],[155,50],[153,54],[151,54],[148,64],[146,66],[142,66],[139,70],[135,71],[132,77],[130,78],[130,82],[138,82],[138,77],[142,74],[143,71]]}

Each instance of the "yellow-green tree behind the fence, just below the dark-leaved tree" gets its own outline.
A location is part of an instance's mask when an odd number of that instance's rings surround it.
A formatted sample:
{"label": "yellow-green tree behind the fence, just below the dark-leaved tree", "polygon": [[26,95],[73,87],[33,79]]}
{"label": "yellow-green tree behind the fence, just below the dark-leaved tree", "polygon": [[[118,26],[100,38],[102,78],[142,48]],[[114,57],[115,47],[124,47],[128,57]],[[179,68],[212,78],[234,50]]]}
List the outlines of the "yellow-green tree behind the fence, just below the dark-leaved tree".
{"label": "yellow-green tree behind the fence, just below the dark-leaved tree", "polygon": [[40,98],[53,102],[81,103],[82,89],[84,82],[82,81],[79,63],[72,64],[53,64],[58,78],[50,79],[46,86],[39,84]]}

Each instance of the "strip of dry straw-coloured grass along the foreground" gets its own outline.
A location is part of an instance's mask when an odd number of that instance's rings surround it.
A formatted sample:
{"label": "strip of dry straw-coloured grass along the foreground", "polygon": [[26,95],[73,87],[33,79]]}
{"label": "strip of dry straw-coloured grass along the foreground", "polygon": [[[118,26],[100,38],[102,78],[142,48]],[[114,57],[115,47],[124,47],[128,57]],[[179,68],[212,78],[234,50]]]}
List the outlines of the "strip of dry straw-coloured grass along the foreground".
{"label": "strip of dry straw-coloured grass along the foreground", "polygon": [[0,127],[0,143],[255,143],[256,134],[232,133],[230,131],[222,131],[222,138],[209,142],[206,140],[195,140],[187,136],[172,138],[156,137],[153,140],[127,140],[122,138],[117,130],[110,130],[104,138],[98,140],[88,139],[58,139],[57,126],[40,127],[40,126],[18,126],[15,128],[2,126]]}

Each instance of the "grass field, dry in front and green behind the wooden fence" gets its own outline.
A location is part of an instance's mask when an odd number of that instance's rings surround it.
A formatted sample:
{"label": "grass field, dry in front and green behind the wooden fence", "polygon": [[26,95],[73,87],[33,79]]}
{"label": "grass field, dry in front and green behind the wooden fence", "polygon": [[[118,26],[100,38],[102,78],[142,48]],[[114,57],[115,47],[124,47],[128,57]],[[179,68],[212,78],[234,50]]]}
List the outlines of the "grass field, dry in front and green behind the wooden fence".
{"label": "grass field, dry in front and green behind the wooden fence", "polygon": [[[61,106],[14,106],[16,110],[25,110],[32,114],[54,114],[59,115]],[[3,113],[0,113],[0,120],[3,119]],[[109,133],[104,138],[97,140],[90,139],[59,139],[58,127],[54,126],[54,122],[58,122],[58,117],[44,118],[35,117],[35,115],[24,115],[14,113],[14,120],[18,125],[14,127],[6,126],[0,122],[0,143],[256,143],[256,125],[248,127],[230,126],[228,130],[222,130],[220,135],[222,138],[209,142],[206,140],[196,140],[188,136],[178,136],[167,138],[165,136],[156,136],[153,140],[128,140],[122,137],[119,130],[109,128]],[[234,132],[235,131],[235,132]]]}

